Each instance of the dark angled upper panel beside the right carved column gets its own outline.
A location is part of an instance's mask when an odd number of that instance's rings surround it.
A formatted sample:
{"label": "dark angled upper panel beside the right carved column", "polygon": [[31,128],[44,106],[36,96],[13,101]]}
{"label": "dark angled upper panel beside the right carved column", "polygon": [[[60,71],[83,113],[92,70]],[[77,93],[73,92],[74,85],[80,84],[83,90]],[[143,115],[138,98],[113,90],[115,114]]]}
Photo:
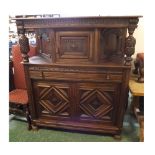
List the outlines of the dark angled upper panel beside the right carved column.
{"label": "dark angled upper panel beside the right carved column", "polygon": [[100,60],[116,60],[124,57],[126,28],[105,28],[101,31]]}

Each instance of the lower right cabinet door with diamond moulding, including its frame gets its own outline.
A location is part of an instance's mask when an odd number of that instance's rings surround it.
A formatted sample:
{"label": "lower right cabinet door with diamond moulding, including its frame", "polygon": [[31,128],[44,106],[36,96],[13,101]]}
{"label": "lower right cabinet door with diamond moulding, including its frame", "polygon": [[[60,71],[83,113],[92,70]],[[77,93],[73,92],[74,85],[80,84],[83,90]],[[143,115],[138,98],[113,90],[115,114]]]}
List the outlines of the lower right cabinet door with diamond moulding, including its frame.
{"label": "lower right cabinet door with diamond moulding, including its frame", "polygon": [[119,92],[120,84],[79,84],[80,121],[115,123]]}

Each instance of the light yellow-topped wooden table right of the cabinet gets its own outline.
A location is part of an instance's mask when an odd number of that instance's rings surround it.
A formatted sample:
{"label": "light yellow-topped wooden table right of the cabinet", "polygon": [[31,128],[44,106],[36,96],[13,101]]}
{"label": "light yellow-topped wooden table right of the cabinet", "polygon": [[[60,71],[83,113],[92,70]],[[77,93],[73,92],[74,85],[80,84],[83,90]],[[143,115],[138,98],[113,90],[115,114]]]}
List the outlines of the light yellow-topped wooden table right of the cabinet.
{"label": "light yellow-topped wooden table right of the cabinet", "polygon": [[144,141],[144,83],[138,83],[137,76],[132,76],[129,90],[133,96],[131,112],[135,114],[140,125],[140,141]]}

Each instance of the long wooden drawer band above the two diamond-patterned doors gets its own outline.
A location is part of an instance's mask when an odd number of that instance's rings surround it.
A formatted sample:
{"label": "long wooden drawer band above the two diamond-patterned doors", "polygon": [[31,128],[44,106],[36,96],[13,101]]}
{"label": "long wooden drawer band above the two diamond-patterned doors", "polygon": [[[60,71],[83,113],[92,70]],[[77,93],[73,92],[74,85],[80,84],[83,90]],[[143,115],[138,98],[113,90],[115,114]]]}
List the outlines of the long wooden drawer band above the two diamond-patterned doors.
{"label": "long wooden drawer band above the two diamond-patterned doors", "polygon": [[122,71],[44,68],[29,70],[30,78],[46,80],[121,82]]}

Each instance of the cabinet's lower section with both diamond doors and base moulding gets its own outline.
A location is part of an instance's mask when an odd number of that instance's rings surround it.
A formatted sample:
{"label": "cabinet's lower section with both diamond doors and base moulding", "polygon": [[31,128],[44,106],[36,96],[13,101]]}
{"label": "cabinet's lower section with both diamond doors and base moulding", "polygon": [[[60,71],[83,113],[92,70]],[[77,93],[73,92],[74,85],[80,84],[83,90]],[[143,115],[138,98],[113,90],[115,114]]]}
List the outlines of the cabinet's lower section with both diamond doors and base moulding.
{"label": "cabinet's lower section with both diamond doors and base moulding", "polygon": [[36,126],[119,132],[120,83],[33,81]]}

